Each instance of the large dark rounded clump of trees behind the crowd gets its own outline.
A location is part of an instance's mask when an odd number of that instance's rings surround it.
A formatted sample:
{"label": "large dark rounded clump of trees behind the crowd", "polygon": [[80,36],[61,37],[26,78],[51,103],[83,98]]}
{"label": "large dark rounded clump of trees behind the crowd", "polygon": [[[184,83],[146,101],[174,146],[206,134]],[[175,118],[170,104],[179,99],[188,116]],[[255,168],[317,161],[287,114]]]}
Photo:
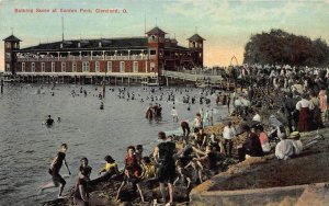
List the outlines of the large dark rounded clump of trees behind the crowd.
{"label": "large dark rounded clump of trees behind the crowd", "polygon": [[329,47],[326,41],[288,34],[282,30],[251,35],[245,46],[245,64],[292,66],[328,66]]}

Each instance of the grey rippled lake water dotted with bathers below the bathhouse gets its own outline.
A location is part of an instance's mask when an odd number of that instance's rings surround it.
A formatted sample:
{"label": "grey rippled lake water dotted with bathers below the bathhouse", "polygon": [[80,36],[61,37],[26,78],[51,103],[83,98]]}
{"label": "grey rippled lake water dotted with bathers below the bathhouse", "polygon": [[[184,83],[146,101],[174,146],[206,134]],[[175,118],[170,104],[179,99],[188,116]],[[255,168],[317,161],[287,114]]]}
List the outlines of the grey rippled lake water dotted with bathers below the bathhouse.
{"label": "grey rippled lake water dotted with bathers below the bathhouse", "polygon": [[[47,170],[63,142],[68,144],[67,161],[72,172],[66,179],[67,191],[73,186],[81,157],[89,159],[93,179],[104,164],[106,154],[111,154],[122,167],[127,146],[140,144],[145,154],[148,154],[157,144],[159,130],[180,130],[180,123],[173,123],[170,116],[173,103],[167,102],[168,93],[174,88],[156,89],[151,94],[150,88],[146,91],[143,87],[129,87],[126,91],[134,92],[135,100],[127,101],[118,98],[118,88],[123,87],[106,87],[104,110],[101,111],[97,96],[101,88],[83,85],[88,91],[84,98],[79,92],[80,87],[56,85],[55,90],[50,90],[50,85],[44,85],[41,94],[37,94],[41,87],[36,84],[4,85],[0,94],[0,205],[37,205],[56,197],[57,188],[38,196],[36,188],[50,181]],[[110,89],[114,89],[114,92]],[[72,90],[79,96],[72,98]],[[52,96],[50,92],[55,95]],[[162,118],[146,119],[145,112],[151,102],[147,96],[159,96],[162,92],[163,100],[155,101],[162,105]],[[180,119],[192,123],[201,107],[208,108],[198,104],[200,89],[189,88],[189,92],[185,92],[185,88],[179,88],[174,93]],[[182,96],[186,94],[196,96],[196,104],[191,105],[191,111],[182,103]],[[141,102],[141,99],[145,101]],[[227,115],[226,107],[216,106],[214,96],[209,99],[215,121]],[[56,122],[50,128],[45,127],[42,123],[48,114],[55,121],[60,117],[61,122]],[[65,167],[60,173],[68,173]]]}

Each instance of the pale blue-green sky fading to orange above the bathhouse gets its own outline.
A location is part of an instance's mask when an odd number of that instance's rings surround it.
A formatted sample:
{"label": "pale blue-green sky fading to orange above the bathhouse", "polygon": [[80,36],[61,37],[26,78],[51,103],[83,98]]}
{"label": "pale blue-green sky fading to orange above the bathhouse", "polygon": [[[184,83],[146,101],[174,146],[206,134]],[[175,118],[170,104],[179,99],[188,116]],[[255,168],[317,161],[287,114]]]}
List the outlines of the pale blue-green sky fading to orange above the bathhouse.
{"label": "pale blue-green sky fading to orange above the bathhouse", "polygon": [[[98,13],[97,9],[120,13]],[[329,44],[329,0],[0,0],[0,37],[13,32],[22,41],[21,48],[60,41],[61,16],[65,39],[144,36],[145,28],[157,25],[188,47],[186,38],[197,32],[206,39],[204,65],[208,67],[229,66],[234,56],[242,64],[250,36],[271,28],[321,37]],[[0,70],[3,50],[2,42]]]}

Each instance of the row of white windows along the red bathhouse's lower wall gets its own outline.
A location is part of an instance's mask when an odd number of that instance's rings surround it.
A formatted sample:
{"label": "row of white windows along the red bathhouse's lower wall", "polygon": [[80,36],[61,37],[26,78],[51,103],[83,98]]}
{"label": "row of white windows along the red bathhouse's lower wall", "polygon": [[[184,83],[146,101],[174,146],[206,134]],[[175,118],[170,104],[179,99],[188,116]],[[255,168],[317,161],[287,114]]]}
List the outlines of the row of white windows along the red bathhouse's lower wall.
{"label": "row of white windows along the red bathhouse's lower wall", "polygon": [[[61,72],[66,72],[66,65],[67,62],[61,62]],[[45,62],[41,62],[41,71],[45,72],[46,65]],[[145,70],[147,70],[147,64],[145,64]],[[31,62],[31,71],[35,72],[35,62]],[[89,61],[82,61],[82,72],[90,71],[90,64]],[[100,61],[95,61],[94,64],[94,71],[100,72]],[[134,61],[133,64],[133,71],[138,72],[138,61]],[[25,62],[22,62],[22,72],[25,72]],[[52,62],[52,72],[55,72],[55,62]],[[72,62],[72,72],[77,72],[77,62]],[[112,72],[112,61],[107,61],[106,72]],[[125,61],[120,61],[120,72],[125,72]]]}

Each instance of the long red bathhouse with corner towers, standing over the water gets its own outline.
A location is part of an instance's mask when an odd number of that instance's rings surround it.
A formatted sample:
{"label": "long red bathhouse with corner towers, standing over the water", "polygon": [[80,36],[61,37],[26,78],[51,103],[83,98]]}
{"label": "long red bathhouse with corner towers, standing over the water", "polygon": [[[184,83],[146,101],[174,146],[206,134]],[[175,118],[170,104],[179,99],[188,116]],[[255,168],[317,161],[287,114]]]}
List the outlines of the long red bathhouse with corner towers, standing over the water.
{"label": "long red bathhouse with corner towers, standing over the water", "polygon": [[194,34],[188,38],[189,47],[183,47],[166,34],[154,27],[143,37],[63,39],[26,48],[20,48],[22,41],[11,35],[3,39],[4,71],[21,81],[97,82],[126,77],[134,81],[161,70],[203,67],[204,38]]}

